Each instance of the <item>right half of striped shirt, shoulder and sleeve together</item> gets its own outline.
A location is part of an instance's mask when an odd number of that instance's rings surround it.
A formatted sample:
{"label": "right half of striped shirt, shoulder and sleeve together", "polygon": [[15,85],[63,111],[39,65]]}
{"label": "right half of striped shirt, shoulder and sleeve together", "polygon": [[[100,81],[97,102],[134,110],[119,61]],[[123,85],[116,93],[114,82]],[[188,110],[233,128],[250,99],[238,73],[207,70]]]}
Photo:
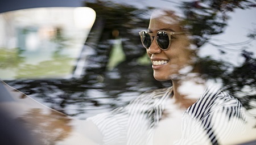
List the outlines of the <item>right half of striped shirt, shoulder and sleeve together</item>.
{"label": "right half of striped shirt, shoulder and sleeve together", "polygon": [[205,139],[211,142],[209,144],[226,144],[242,135],[246,116],[242,104],[235,97],[220,88],[208,87],[184,113],[183,121],[186,138],[179,143]]}

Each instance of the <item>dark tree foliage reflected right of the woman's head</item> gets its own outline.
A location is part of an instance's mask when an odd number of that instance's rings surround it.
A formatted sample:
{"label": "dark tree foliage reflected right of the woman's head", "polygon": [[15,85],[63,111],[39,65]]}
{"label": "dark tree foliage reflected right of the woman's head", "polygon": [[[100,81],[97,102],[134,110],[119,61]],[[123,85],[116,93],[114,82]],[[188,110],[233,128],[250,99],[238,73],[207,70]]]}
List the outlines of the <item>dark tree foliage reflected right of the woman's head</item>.
{"label": "dark tree foliage reflected right of the woman's head", "polygon": [[[202,0],[183,2],[181,6],[185,15],[184,24],[187,25],[189,32],[191,32],[197,47],[200,49],[200,46],[209,43],[216,46],[216,49],[220,50],[222,54],[229,50],[226,48],[228,46],[241,45],[242,48],[244,44],[255,40],[255,31],[251,31],[248,34],[249,40],[236,44],[218,45],[210,39],[213,35],[225,31],[230,18],[229,12],[233,12],[237,8],[246,9],[251,7],[256,7],[255,2]],[[253,104],[249,102],[253,102],[256,99],[256,59],[252,52],[248,52],[245,48],[241,50],[241,57],[245,61],[240,66],[232,66],[232,64],[224,59],[216,60],[211,57],[199,59],[205,78],[221,79],[222,86],[225,86],[224,89],[238,97],[245,108],[251,109],[255,108],[255,105],[251,106]]]}

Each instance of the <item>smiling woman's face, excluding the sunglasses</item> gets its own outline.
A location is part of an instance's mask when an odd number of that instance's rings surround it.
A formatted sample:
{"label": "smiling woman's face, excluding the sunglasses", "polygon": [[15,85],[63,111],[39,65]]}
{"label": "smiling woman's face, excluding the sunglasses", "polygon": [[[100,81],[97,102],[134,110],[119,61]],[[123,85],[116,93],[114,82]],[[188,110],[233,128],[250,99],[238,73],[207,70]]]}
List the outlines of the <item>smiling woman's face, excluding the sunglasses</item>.
{"label": "smiling woman's face, excluding the sunglasses", "polygon": [[[151,17],[148,27],[148,33],[156,33],[160,30],[170,32],[183,32],[179,22],[168,16]],[[189,62],[191,60],[191,50],[189,50],[189,40],[187,35],[172,35],[171,45],[167,50],[162,50],[156,44],[156,39],[152,42],[150,48],[147,49],[147,54],[152,62],[152,69],[154,70],[154,78],[159,81],[175,79],[180,74],[191,69]],[[154,61],[164,62],[160,65]],[[167,62],[167,63],[165,63]]]}

